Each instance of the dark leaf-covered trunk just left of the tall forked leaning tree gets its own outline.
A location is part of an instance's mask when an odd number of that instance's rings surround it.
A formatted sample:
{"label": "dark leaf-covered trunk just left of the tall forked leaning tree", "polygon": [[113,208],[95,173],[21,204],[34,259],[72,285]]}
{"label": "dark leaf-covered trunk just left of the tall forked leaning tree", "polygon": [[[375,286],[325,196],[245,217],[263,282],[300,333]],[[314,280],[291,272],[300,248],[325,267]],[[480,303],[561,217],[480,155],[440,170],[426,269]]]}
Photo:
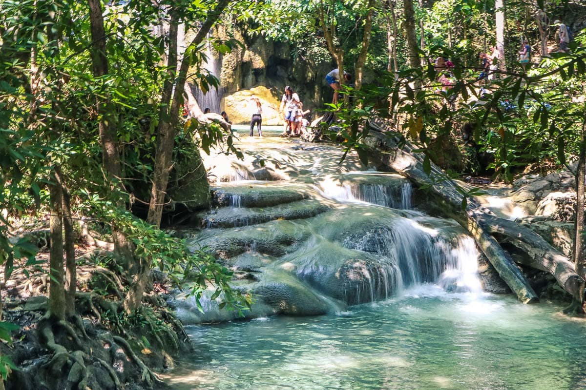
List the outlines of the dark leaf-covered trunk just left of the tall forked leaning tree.
{"label": "dark leaf-covered trunk just left of the tall forked leaning tree", "polygon": [[[102,77],[108,74],[108,57],[106,56],[106,37],[104,30],[104,17],[102,16],[102,8],[100,0],[87,0],[90,8],[90,31],[91,42],[90,55],[93,66],[94,77]],[[124,200],[121,196],[121,167],[120,167],[120,147],[118,146],[117,132],[113,126],[111,118],[108,118],[108,111],[105,105],[108,104],[109,99],[104,103],[96,98],[96,109],[100,122],[98,123],[98,130],[100,133],[100,143],[102,147],[102,164],[108,174],[108,181],[110,191],[116,192],[114,198],[117,199],[116,206],[120,209],[125,208]],[[113,227],[112,238],[114,241],[114,248],[117,254],[125,261],[125,268],[130,268],[132,260],[132,246],[128,243],[126,237],[120,230]]]}

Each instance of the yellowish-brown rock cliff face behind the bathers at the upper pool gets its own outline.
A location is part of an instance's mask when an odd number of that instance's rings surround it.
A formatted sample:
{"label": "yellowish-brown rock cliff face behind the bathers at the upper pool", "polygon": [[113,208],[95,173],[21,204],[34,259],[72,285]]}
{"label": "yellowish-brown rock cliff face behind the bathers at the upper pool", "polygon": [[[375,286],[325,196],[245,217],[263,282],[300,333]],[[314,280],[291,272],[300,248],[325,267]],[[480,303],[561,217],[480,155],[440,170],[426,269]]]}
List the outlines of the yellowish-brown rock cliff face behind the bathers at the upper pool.
{"label": "yellowish-brown rock cliff face behind the bathers at the upper pool", "polygon": [[[220,27],[215,34],[229,39],[226,27]],[[257,95],[263,103],[264,124],[282,123],[278,108],[286,85],[299,94],[304,109],[312,112],[322,106],[324,99],[330,99],[332,92],[325,75],[333,63],[308,63],[294,55],[293,44],[273,42],[258,35],[251,37],[238,26],[233,26],[230,34],[243,46],[236,46],[223,56],[213,56],[220,69],[219,106],[234,124],[250,122],[251,95]]]}

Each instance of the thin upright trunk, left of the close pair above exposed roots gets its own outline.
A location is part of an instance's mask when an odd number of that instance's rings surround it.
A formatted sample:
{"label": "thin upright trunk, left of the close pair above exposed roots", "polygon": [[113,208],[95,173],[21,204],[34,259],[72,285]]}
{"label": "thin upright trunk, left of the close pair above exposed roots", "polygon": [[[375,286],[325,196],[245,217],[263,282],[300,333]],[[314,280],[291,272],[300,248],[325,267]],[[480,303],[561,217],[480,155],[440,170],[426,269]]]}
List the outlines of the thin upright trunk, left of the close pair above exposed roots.
{"label": "thin upright trunk, left of the close pair above exposed roots", "polygon": [[53,177],[49,186],[51,215],[49,218],[49,316],[54,320],[65,319],[65,289],[63,287],[63,192],[59,181]]}

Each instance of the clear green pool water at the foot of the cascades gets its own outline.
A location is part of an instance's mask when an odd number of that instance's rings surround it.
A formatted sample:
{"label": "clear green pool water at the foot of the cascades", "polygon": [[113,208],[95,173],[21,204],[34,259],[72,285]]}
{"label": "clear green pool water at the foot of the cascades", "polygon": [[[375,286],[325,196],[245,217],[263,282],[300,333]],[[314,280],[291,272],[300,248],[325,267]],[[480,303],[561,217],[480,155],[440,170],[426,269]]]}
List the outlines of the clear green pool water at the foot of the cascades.
{"label": "clear green pool water at the foot of the cascades", "polygon": [[548,303],[410,296],[319,317],[190,327],[173,389],[586,389],[586,322]]}

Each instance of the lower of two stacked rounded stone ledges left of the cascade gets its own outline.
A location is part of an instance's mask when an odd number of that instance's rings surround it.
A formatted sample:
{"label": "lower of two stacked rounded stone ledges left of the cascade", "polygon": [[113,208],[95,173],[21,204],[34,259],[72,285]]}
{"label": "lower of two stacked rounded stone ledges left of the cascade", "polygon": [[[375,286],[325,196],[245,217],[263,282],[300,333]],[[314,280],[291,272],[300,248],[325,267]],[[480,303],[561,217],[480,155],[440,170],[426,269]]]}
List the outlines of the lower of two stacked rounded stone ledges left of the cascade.
{"label": "lower of two stacked rounded stone ledges left of the cascade", "polygon": [[200,215],[202,227],[241,227],[277,219],[306,219],[329,210],[313,199],[265,208],[220,208]]}

